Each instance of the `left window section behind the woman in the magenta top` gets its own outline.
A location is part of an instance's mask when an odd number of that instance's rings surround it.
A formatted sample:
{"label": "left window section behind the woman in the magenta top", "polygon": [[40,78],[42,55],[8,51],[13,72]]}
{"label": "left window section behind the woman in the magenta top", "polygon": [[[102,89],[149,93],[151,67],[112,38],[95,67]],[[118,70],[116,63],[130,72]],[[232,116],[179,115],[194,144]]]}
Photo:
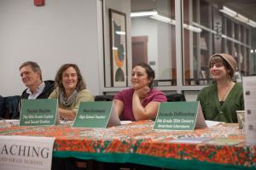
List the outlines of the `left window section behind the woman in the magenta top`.
{"label": "left window section behind the woman in the magenta top", "polygon": [[[105,1],[105,87],[114,86],[113,59],[109,49],[109,16],[113,9],[126,15],[127,20],[127,66],[125,75],[130,82],[131,68],[145,62],[155,71],[155,86],[176,85],[175,1],[174,0],[131,0]],[[149,12],[146,15],[142,13]],[[153,12],[150,14],[150,12]],[[136,17],[131,14],[137,14]]]}

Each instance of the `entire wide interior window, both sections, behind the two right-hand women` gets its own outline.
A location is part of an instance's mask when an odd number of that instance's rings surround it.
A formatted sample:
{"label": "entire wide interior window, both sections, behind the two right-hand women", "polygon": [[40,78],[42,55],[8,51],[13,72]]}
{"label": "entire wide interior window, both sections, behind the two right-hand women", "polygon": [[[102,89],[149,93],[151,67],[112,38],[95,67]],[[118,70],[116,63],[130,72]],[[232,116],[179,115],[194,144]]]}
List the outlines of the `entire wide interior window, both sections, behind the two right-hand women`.
{"label": "entire wide interior window, both sections, behind the two right-hand women", "polygon": [[[239,2],[232,4],[240,5]],[[180,10],[176,8],[179,5],[183,8],[182,14],[178,14]],[[115,92],[131,85],[131,69],[140,62],[148,63],[154,69],[156,87],[164,91],[177,90],[178,93],[200,90],[212,83],[208,68],[212,54],[231,54],[241,75],[255,73],[255,62],[252,62],[256,49],[252,45],[256,42],[255,28],[226,14],[224,9],[228,7],[229,3],[207,0],[104,0],[103,91]],[[121,69],[127,70],[124,78],[128,83],[120,83],[123,84],[120,86],[113,83],[110,10],[125,16],[126,63]],[[179,19],[183,19],[182,23]],[[120,25],[117,23],[116,26]],[[178,26],[183,28],[182,31],[177,29]],[[179,33],[182,36],[176,36]]]}

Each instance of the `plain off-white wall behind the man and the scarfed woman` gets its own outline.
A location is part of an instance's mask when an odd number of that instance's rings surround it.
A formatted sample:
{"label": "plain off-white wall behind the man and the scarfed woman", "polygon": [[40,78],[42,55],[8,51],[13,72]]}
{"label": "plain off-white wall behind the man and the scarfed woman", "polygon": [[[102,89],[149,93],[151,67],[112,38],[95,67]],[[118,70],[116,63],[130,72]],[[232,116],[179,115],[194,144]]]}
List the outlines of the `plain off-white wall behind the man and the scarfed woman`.
{"label": "plain off-white wall behind the man and the scarfed woman", "polygon": [[[21,94],[19,65],[38,62],[43,79],[54,79],[64,63],[79,65],[93,94],[99,94],[96,0],[0,1],[0,95]],[[102,36],[102,35],[101,35]]]}

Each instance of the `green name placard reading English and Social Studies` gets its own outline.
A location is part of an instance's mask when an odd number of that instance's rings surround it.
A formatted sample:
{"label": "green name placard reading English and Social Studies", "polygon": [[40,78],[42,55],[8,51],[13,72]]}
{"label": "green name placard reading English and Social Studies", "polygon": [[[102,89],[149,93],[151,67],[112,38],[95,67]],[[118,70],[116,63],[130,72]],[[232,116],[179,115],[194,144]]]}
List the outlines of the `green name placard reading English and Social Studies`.
{"label": "green name placard reading English and Social Studies", "polygon": [[55,125],[57,99],[22,99],[20,126]]}

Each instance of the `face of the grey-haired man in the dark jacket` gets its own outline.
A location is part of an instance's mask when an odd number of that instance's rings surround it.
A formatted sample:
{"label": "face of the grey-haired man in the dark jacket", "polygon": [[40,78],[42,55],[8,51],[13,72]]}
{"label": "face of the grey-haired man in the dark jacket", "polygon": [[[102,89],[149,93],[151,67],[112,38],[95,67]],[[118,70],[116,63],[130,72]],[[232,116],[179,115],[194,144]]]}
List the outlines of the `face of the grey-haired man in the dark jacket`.
{"label": "face of the grey-haired man in the dark jacket", "polygon": [[41,83],[41,73],[33,71],[31,65],[25,65],[20,68],[20,77],[27,88],[38,87],[38,84]]}

